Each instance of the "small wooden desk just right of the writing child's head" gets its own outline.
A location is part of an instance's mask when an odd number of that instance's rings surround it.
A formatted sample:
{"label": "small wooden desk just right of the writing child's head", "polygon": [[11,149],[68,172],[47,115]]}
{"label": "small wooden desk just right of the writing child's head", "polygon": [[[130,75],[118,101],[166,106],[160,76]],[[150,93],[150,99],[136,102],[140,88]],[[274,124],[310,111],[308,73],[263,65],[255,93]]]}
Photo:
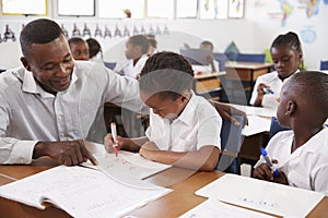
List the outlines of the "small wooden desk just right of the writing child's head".
{"label": "small wooden desk just right of the writing child's head", "polygon": [[220,100],[221,97],[221,77],[225,75],[225,72],[207,73],[201,75],[195,75],[192,89],[198,95],[212,100]]}

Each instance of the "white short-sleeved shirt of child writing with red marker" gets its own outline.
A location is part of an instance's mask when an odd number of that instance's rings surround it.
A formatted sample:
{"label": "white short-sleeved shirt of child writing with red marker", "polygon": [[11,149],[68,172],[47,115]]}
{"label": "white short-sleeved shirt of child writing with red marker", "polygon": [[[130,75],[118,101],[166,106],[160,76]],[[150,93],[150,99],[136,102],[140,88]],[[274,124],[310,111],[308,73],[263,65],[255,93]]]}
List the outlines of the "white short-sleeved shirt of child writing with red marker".
{"label": "white short-sleeved shirt of child writing with red marker", "polygon": [[184,111],[172,123],[150,112],[150,126],[145,134],[161,150],[198,150],[204,145],[221,148],[222,119],[203,97],[192,96]]}

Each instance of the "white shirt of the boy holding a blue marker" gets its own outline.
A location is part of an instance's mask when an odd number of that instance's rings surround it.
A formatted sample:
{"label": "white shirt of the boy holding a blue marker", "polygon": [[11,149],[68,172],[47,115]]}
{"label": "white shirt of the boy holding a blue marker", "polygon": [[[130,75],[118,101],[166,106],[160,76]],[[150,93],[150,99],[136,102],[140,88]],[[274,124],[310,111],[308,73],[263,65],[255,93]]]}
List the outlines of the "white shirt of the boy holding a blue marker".
{"label": "white shirt of the boy holding a blue marker", "polygon": [[[309,138],[291,154],[293,131],[277,133],[267,146],[271,159],[277,159],[289,184],[328,195],[328,128]],[[255,167],[265,162],[261,157]]]}

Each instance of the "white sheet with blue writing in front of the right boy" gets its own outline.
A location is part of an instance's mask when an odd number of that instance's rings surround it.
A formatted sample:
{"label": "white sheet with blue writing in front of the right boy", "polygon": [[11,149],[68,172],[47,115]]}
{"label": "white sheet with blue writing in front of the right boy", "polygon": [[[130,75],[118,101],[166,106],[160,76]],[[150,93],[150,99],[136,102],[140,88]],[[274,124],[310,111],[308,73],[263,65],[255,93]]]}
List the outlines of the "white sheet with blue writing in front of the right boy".
{"label": "white sheet with blue writing in front of the right boy", "polygon": [[196,194],[289,217],[306,217],[325,196],[308,190],[229,173],[196,191]]}

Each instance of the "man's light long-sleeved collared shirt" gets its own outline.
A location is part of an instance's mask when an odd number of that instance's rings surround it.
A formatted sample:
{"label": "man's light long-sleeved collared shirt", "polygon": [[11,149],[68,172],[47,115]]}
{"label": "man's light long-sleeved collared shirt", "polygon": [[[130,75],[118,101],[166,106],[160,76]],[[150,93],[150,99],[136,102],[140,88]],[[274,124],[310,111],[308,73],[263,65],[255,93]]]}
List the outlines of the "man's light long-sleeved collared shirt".
{"label": "man's light long-sleeved collared shirt", "polygon": [[138,111],[143,106],[138,81],[75,61],[69,88],[55,96],[24,68],[1,73],[0,164],[30,164],[38,141],[103,142],[106,101]]}

